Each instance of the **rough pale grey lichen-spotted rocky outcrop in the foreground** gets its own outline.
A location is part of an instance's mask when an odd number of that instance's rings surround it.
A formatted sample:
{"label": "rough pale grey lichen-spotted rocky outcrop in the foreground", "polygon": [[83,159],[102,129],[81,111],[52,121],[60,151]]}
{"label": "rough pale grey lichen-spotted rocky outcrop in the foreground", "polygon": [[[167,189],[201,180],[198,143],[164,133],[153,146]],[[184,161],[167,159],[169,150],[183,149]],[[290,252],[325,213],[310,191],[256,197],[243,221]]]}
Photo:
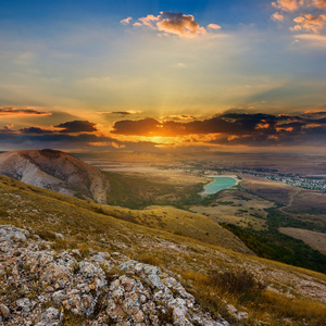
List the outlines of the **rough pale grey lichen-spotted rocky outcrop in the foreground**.
{"label": "rough pale grey lichen-spotted rocky outcrop in the foreground", "polygon": [[229,325],[204,313],[168,271],[50,244],[0,226],[0,325]]}

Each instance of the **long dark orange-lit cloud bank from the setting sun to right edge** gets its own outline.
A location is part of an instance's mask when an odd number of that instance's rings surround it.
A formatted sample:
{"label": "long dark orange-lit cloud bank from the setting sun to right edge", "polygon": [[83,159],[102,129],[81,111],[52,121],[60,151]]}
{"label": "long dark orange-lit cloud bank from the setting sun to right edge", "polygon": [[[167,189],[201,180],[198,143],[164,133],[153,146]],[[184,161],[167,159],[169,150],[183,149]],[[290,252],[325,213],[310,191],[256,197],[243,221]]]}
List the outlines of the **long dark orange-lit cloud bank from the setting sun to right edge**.
{"label": "long dark orange-lit cloud bank from the setting sun to right edge", "polygon": [[197,135],[197,141],[216,145],[326,146],[326,113],[314,112],[301,116],[227,113],[184,123],[154,118],[120,121],[114,124],[113,134],[143,137]]}

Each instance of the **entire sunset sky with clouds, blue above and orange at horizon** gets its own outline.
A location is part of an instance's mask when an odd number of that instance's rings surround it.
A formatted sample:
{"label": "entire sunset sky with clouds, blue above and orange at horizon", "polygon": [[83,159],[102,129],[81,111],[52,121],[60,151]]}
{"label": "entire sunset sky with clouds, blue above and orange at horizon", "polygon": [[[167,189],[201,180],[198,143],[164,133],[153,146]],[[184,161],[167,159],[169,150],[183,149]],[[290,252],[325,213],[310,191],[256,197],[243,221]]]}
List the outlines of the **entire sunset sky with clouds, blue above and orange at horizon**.
{"label": "entire sunset sky with clouds, blue above and orange at horizon", "polygon": [[0,0],[0,150],[326,146],[326,0]]}

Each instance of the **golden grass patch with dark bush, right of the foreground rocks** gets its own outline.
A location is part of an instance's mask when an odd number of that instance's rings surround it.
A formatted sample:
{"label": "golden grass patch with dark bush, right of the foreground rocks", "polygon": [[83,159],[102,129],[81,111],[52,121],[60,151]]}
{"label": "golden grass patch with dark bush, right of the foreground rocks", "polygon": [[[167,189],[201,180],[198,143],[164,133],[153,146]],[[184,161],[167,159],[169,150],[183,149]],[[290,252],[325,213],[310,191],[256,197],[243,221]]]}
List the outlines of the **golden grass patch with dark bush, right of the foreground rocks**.
{"label": "golden grass patch with dark bush, right of the foreground rocks", "polygon": [[290,325],[319,326],[326,318],[325,304],[271,291],[247,271],[210,274],[184,272],[181,275],[188,290],[191,284],[192,294],[202,308],[213,312],[215,317],[222,314],[233,325],[241,323],[228,315],[224,300],[249,313],[243,325],[256,325],[255,321],[260,319],[266,323],[264,325],[278,326],[287,325],[286,319],[289,319]]}

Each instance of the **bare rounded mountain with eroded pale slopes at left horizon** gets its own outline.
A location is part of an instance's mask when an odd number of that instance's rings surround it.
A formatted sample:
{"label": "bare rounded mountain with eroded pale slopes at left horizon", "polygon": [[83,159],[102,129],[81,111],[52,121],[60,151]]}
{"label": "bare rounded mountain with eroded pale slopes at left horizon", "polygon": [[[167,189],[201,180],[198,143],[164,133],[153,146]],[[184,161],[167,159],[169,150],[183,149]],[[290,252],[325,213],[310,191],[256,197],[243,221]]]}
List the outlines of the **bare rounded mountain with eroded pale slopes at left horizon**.
{"label": "bare rounded mountain with eroded pale slopes at left horizon", "polygon": [[0,174],[61,193],[108,202],[104,174],[61,151],[26,150],[0,154]]}

